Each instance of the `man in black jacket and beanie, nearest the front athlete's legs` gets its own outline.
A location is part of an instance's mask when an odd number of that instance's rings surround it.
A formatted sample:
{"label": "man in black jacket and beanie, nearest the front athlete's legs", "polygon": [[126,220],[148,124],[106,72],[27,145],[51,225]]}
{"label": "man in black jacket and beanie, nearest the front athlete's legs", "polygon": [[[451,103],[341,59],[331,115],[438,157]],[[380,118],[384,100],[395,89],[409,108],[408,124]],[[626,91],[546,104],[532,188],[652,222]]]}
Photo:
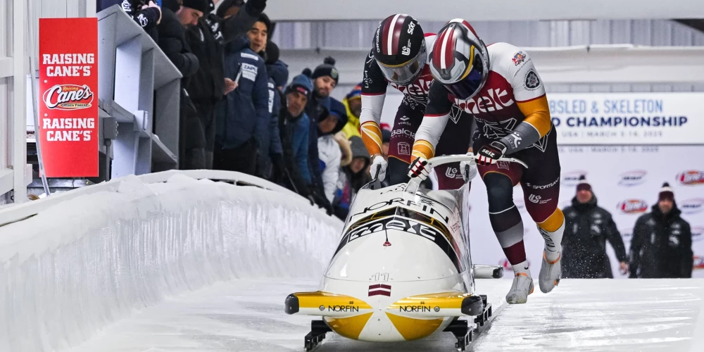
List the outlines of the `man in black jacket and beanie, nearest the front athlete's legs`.
{"label": "man in black jacket and beanie, nearest the front athlete's legs", "polygon": [[620,262],[622,275],[628,273],[626,249],[611,214],[596,205],[596,196],[584,175],[579,177],[577,194],[565,213],[562,237],[562,277],[578,279],[613,278],[606,241]]}

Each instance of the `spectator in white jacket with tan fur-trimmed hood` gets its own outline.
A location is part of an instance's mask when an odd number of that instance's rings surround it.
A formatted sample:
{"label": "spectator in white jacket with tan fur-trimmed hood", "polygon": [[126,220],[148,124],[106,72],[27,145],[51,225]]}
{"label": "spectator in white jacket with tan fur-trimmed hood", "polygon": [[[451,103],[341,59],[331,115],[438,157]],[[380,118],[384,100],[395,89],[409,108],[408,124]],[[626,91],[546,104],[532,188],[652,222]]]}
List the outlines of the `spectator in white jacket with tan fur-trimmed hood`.
{"label": "spectator in white jacket with tan fur-trimmed hood", "polygon": [[[327,104],[325,104],[327,105]],[[332,203],[340,172],[342,152],[334,135],[341,131],[347,123],[347,111],[343,103],[329,98],[327,117],[318,121],[318,157],[322,170],[322,188],[325,197]]]}

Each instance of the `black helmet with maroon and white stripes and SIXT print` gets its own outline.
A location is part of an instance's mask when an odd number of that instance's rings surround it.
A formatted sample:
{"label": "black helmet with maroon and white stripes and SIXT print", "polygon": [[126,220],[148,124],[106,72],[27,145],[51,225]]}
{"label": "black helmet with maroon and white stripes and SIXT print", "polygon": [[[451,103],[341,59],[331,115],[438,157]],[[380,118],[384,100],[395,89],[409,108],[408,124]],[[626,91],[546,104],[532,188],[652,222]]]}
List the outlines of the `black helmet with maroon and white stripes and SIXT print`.
{"label": "black helmet with maroon and white stripes and SIXT print", "polygon": [[386,80],[408,84],[422,73],[427,61],[423,29],[410,15],[390,15],[377,27],[372,54]]}

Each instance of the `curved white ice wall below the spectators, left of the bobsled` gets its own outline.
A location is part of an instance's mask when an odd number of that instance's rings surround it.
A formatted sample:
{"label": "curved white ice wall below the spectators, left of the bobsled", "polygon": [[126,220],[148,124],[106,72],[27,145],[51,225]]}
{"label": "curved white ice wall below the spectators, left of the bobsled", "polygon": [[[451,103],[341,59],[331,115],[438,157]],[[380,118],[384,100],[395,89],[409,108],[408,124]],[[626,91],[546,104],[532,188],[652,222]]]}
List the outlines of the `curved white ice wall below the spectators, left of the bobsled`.
{"label": "curved white ice wall below the spectators, left of the bobsled", "polygon": [[75,346],[135,309],[218,280],[317,279],[341,227],[294,194],[126,178],[115,192],[0,227],[0,351]]}

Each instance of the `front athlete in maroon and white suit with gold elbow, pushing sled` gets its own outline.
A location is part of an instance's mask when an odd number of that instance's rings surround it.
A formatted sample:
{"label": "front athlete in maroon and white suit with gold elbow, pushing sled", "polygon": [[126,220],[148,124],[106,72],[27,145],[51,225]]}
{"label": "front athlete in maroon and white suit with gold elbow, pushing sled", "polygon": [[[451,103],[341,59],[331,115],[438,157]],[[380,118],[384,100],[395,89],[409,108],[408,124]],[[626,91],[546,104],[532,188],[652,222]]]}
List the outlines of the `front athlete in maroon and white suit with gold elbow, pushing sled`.
{"label": "front athlete in maroon and white suit with gold elbow, pushing sled", "polygon": [[[453,108],[474,115],[478,128],[473,150],[489,196],[491,227],[515,273],[506,301],[525,303],[533,292],[523,222],[513,203],[513,187],[518,183],[528,213],[545,240],[539,287],[551,291],[560,282],[565,217],[557,208],[560,160],[556,134],[545,89],[531,58],[511,44],[485,46],[467,21],[455,19],[437,34],[429,61],[434,83],[415,136],[415,160],[408,175],[419,182],[427,178],[427,160],[435,155]],[[527,168],[497,163],[506,155],[523,161]],[[464,167],[460,165],[460,170]]]}

